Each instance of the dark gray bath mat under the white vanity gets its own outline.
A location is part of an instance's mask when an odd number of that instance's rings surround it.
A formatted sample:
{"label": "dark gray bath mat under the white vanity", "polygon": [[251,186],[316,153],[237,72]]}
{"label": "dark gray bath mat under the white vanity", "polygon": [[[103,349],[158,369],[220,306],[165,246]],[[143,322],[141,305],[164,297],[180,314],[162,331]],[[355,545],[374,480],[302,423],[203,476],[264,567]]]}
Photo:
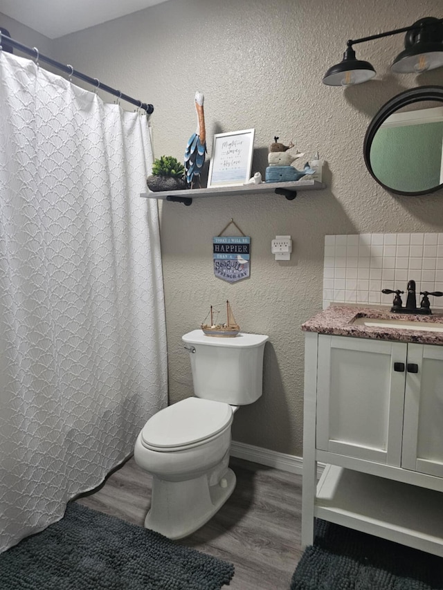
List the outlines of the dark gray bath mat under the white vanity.
{"label": "dark gray bath mat under the white vanity", "polygon": [[291,590],[443,590],[443,559],[318,520]]}

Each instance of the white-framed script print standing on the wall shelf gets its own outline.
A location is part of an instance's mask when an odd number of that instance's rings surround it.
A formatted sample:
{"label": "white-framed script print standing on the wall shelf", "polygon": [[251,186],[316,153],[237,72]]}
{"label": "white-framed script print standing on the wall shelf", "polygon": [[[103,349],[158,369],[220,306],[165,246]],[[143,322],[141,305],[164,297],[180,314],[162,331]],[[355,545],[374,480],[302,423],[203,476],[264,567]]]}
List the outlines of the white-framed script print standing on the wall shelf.
{"label": "white-framed script print standing on the wall shelf", "polygon": [[210,158],[208,188],[244,185],[251,178],[255,129],[216,133]]}

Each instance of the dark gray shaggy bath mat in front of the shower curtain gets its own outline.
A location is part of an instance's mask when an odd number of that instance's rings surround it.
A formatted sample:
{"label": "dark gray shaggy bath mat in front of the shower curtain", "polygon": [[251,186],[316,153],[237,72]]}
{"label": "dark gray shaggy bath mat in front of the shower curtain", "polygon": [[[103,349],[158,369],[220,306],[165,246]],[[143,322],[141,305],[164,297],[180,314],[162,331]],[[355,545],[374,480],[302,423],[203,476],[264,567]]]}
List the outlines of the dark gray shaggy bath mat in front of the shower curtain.
{"label": "dark gray shaggy bath mat in front of the shower curtain", "polygon": [[234,566],[72,502],[0,555],[1,590],[219,590]]}

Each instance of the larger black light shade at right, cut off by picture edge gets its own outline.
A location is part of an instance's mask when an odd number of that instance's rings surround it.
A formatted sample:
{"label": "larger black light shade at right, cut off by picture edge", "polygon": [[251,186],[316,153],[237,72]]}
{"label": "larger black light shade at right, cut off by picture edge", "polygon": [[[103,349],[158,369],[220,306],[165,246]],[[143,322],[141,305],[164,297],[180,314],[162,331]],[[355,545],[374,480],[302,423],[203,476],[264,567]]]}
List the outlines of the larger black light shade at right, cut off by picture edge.
{"label": "larger black light shade at right, cut off by picture edge", "polygon": [[408,31],[405,49],[397,55],[391,70],[396,73],[420,73],[443,66],[443,24],[427,17],[414,23],[422,28]]}

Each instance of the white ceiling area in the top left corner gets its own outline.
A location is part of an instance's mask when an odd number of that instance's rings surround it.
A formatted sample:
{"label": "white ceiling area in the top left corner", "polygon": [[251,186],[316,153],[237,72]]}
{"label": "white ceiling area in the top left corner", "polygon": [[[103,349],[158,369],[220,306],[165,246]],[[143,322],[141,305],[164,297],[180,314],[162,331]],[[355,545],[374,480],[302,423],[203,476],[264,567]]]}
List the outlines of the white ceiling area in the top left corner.
{"label": "white ceiling area in the top left corner", "polygon": [[49,39],[57,39],[165,1],[167,0],[0,0],[0,12]]}

